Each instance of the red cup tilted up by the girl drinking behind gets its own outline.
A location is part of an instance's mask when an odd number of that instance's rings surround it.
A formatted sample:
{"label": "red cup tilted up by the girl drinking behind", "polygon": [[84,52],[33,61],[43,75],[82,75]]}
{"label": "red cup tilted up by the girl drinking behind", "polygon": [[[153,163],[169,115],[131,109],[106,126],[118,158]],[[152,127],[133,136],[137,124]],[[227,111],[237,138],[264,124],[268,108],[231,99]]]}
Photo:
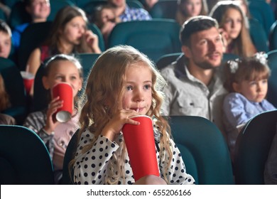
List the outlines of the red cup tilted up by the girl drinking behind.
{"label": "red cup tilted up by the girl drinking behind", "polygon": [[54,117],[58,122],[67,122],[71,119],[73,112],[73,89],[72,87],[65,83],[61,82],[56,84],[52,88],[52,97],[60,96],[60,100],[63,100],[63,107],[55,112]]}

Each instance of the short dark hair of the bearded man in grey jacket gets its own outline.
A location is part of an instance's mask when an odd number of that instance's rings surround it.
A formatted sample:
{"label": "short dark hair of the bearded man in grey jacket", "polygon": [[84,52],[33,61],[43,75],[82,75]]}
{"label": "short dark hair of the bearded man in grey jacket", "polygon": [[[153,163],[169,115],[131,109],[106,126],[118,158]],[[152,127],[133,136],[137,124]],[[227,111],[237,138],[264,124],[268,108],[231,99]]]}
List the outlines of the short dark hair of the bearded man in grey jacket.
{"label": "short dark hair of the bearded man in grey jacket", "polygon": [[182,45],[190,46],[190,36],[199,31],[205,31],[212,27],[218,28],[217,20],[210,16],[193,16],[183,24],[180,30]]}

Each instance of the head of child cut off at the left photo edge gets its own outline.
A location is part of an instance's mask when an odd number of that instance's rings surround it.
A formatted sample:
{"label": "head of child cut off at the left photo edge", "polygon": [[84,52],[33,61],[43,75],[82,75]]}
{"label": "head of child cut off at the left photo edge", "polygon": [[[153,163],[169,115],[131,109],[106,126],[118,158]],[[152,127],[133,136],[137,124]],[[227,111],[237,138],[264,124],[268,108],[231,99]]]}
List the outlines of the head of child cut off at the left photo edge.
{"label": "head of child cut off at the left photo edge", "polygon": [[11,53],[11,28],[0,19],[0,58],[9,58]]}

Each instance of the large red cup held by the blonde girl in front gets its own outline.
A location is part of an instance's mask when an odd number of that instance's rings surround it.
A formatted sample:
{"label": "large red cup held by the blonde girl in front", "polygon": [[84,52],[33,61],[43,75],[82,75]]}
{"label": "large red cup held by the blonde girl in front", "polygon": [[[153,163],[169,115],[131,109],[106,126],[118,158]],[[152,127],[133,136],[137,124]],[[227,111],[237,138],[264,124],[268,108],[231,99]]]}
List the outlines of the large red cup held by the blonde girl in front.
{"label": "large red cup held by the blonde girl in front", "polygon": [[140,124],[125,124],[122,132],[135,181],[143,176],[160,176],[152,119],[146,115],[131,117],[131,119]]}

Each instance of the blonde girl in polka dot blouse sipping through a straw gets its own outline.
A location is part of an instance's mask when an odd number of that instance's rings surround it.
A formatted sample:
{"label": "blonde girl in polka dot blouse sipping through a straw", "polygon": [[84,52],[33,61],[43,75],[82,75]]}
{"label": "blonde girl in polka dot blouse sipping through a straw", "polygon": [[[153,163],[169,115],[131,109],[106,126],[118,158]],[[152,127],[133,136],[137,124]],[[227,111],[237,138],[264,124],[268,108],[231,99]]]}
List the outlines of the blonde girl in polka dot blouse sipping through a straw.
{"label": "blonde girl in polka dot blouse sipping through a straw", "polygon": [[75,184],[135,183],[121,129],[124,124],[139,124],[129,119],[138,114],[156,120],[153,129],[156,148],[161,149],[156,149],[161,177],[145,176],[136,184],[195,182],[185,173],[168,122],[160,114],[163,95],[159,90],[164,85],[151,60],[131,46],[118,45],[100,55],[84,93],[87,100],[80,115],[82,133],[71,162]]}

